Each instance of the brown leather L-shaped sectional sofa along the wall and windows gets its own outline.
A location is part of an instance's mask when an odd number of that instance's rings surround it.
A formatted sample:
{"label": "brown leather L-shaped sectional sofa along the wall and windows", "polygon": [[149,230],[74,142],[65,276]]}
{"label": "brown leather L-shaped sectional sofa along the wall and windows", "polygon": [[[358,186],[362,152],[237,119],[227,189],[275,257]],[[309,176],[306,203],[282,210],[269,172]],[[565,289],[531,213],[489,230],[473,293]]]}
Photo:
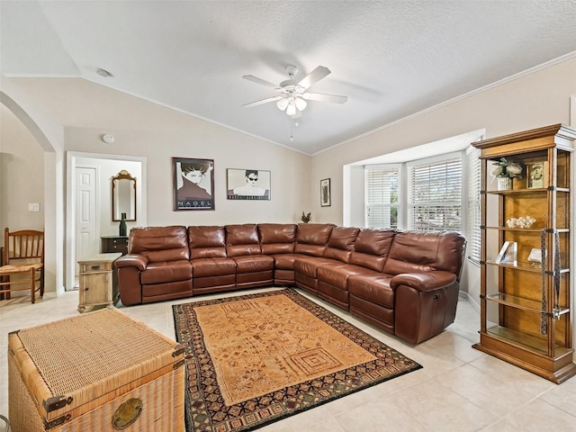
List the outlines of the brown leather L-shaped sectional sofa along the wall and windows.
{"label": "brown leather L-shaped sectional sofa along the wall and windows", "polygon": [[130,230],[116,261],[121,302],[297,286],[418,344],[455,319],[464,237],[332,224]]}

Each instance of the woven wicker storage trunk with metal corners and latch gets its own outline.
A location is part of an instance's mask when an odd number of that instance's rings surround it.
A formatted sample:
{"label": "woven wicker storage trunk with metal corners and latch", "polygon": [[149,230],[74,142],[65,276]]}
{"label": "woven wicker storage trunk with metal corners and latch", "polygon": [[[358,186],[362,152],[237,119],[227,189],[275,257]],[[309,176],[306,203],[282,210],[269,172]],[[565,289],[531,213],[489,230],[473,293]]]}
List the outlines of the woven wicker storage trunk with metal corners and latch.
{"label": "woven wicker storage trunk with metal corners and latch", "polygon": [[14,432],[182,432],[184,349],[105,309],[8,335]]}

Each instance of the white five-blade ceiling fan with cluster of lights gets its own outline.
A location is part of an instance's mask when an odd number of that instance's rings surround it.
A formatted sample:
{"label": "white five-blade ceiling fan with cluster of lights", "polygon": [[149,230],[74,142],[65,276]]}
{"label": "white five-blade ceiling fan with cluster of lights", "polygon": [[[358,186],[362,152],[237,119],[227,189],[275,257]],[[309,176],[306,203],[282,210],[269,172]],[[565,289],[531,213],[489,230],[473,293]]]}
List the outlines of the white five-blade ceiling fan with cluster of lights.
{"label": "white five-blade ceiling fan with cluster of lights", "polygon": [[302,111],[304,111],[308,105],[306,101],[346,103],[348,100],[347,96],[340,96],[338,94],[311,93],[307,91],[311,85],[317,83],[320,79],[330,74],[330,69],[328,67],[316,67],[310,74],[304,76],[300,81],[294,80],[294,76],[298,73],[298,67],[289,65],[286,67],[286,72],[290,76],[290,79],[283,81],[280,85],[275,85],[265,79],[253,75],[242,76],[253,83],[272,87],[279,93],[275,96],[267,97],[266,99],[256,102],[246,103],[242,106],[250,108],[263,103],[275,102],[280,111],[285,111],[286,114],[291,117],[298,118],[302,116]]}

